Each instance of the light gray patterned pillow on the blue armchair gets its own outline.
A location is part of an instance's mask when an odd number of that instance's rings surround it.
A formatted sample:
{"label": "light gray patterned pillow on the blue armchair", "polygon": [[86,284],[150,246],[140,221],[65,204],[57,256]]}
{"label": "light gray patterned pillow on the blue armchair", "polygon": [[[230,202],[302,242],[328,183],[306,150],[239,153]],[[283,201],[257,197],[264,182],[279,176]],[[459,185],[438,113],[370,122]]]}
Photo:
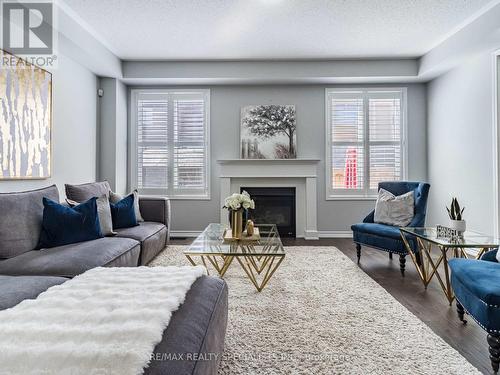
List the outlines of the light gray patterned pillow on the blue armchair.
{"label": "light gray patterned pillow on the blue armchair", "polygon": [[373,220],[375,223],[405,227],[411,223],[414,215],[413,191],[395,196],[387,190],[379,190]]}

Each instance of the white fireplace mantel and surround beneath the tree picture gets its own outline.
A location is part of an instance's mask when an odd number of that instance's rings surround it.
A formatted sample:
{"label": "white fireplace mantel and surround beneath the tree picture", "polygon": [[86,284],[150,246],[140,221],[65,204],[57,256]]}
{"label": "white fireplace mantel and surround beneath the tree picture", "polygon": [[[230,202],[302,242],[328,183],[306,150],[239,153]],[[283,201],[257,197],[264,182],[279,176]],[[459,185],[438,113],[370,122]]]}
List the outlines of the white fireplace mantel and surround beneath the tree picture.
{"label": "white fireplace mantel and surround beneath the tree picture", "polygon": [[[224,159],[220,165],[221,203],[241,186],[296,187],[297,236],[318,239],[317,178],[319,159]],[[228,222],[221,209],[221,222]]]}

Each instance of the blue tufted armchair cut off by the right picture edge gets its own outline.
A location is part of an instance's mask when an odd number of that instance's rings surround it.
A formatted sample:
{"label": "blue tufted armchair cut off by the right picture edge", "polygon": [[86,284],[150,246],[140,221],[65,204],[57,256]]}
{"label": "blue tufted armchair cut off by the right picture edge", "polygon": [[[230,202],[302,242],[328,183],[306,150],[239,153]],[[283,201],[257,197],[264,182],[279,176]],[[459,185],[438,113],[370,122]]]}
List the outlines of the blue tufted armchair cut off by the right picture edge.
{"label": "blue tufted armchair cut off by the right picture edge", "polygon": [[481,260],[455,258],[449,261],[451,286],[455,293],[458,318],[465,324],[467,312],[487,333],[493,371],[500,364],[500,264],[498,250],[485,253]]}

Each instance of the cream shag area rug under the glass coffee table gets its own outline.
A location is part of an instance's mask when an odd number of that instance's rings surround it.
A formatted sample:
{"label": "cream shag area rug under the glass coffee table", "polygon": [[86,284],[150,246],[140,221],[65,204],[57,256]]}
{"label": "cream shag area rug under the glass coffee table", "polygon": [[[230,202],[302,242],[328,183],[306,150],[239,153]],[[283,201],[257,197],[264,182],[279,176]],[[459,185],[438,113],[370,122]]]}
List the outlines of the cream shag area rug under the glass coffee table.
{"label": "cream shag area rug under the glass coffee table", "polygon": [[[184,248],[151,265],[186,265]],[[337,248],[285,249],[261,293],[237,262],[226,273],[220,374],[479,374]]]}

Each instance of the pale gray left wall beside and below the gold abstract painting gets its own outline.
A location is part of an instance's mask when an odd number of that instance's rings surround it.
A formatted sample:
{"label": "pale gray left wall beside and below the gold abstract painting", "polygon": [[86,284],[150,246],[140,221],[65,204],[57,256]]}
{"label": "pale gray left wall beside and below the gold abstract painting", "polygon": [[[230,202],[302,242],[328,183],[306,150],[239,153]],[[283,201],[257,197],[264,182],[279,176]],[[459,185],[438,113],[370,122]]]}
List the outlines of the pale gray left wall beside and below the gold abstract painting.
{"label": "pale gray left wall beside and below the gold abstract painting", "polygon": [[96,76],[64,55],[53,71],[52,177],[0,181],[0,192],[36,189],[96,178]]}

